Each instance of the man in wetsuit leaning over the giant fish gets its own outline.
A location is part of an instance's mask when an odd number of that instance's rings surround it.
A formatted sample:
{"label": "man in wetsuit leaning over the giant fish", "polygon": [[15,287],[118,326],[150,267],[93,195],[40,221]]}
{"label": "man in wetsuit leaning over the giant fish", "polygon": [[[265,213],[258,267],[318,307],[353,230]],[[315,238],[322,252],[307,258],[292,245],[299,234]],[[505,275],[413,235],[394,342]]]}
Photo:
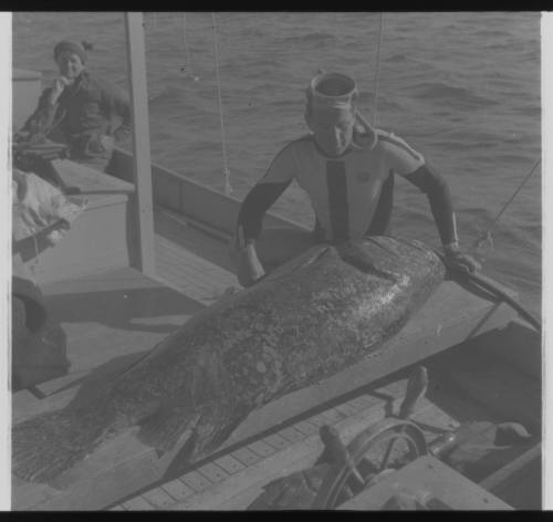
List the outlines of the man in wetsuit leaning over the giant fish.
{"label": "man in wetsuit leaning over the giant fish", "polygon": [[458,244],[449,188],[425,158],[392,133],[374,129],[356,109],[356,83],[321,73],[307,88],[305,121],[311,134],[289,143],[240,208],[233,240],[239,282],[264,274],[255,239],[267,210],[293,179],[307,192],[316,216],[315,239],[340,243],[385,234],[392,216],[394,175],[426,192],[447,262],[474,271],[478,263]]}

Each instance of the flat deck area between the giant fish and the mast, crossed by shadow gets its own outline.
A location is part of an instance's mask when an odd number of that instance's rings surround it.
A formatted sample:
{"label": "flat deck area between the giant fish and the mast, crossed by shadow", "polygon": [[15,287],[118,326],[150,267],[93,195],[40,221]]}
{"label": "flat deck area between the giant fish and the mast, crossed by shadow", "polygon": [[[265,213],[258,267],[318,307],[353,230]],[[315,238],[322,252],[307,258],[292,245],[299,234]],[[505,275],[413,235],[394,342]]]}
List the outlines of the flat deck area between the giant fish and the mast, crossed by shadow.
{"label": "flat deck area between the giant fish and the mast, crossed by shadow", "polygon": [[128,267],[52,283],[43,292],[67,336],[70,373],[36,386],[48,399],[13,394],[14,422],[64,406],[91,372],[113,375],[204,307]]}

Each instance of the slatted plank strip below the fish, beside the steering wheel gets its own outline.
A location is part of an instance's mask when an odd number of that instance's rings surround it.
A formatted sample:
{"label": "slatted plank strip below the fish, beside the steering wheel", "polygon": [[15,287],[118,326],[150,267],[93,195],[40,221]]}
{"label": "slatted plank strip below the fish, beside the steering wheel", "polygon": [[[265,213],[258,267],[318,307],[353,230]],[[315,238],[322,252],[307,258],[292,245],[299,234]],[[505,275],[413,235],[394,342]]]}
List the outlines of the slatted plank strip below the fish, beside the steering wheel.
{"label": "slatted plank strip below the fish, beside the steering wheel", "polygon": [[[150,492],[164,490],[169,492],[175,481],[185,483],[189,490],[180,495],[173,494],[171,504],[164,509],[171,510],[243,510],[262,491],[269,481],[285,473],[312,466],[322,450],[319,428],[333,425],[344,441],[349,441],[358,431],[380,420],[392,406],[397,407],[405,393],[406,380],[390,382],[376,388],[374,394],[365,393],[346,403],[328,407],[307,416],[301,421],[275,428],[259,439],[229,452],[216,457],[207,464],[171,478],[167,483],[127,499],[121,507],[134,510],[143,501],[153,504]],[[347,407],[347,414],[344,408]],[[420,409],[425,409],[422,405]],[[238,466],[229,466],[238,462]],[[140,498],[135,503],[135,499]]]}

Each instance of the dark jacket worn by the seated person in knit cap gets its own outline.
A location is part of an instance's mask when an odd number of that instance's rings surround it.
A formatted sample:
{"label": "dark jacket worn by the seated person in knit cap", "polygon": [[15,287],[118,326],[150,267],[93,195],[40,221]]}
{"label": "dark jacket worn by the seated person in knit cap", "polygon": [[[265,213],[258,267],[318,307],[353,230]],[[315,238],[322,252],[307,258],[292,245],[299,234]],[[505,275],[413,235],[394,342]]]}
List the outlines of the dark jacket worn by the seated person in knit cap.
{"label": "dark jacket worn by the seated person in knit cap", "polygon": [[102,136],[113,136],[117,142],[129,136],[129,102],[117,86],[85,70],[53,106],[49,103],[51,91],[44,90],[23,132],[65,143],[75,160],[105,156]]}

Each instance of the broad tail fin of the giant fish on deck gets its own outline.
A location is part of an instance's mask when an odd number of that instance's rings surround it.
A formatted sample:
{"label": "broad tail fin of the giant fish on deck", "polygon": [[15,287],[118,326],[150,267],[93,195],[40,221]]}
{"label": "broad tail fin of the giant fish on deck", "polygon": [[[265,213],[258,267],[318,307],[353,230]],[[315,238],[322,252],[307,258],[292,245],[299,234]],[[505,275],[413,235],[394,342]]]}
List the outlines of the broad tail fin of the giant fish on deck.
{"label": "broad tail fin of the giant fish on deck", "polygon": [[84,459],[105,431],[97,416],[79,410],[40,415],[12,429],[12,473],[32,482],[48,482]]}

